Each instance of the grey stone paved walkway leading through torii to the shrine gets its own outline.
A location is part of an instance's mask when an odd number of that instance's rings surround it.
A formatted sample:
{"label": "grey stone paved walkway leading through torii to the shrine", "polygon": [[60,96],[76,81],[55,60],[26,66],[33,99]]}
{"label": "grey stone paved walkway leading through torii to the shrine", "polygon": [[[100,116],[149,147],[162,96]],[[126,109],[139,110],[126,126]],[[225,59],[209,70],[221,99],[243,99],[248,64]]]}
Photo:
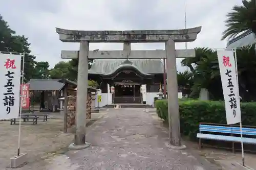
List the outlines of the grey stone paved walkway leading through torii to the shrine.
{"label": "grey stone paved walkway leading through torii to the shrine", "polygon": [[92,147],[20,169],[215,169],[187,150],[170,149],[166,128],[151,114],[143,109],[110,109],[87,129]]}

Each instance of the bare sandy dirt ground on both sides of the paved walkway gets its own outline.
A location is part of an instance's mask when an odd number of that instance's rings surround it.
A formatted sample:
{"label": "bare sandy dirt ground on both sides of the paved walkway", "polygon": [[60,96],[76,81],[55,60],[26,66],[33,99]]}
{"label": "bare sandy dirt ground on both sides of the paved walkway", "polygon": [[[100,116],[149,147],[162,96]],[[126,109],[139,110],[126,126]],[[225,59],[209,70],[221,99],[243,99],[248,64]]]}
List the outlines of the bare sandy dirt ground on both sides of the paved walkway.
{"label": "bare sandy dirt ground on both sides of the paved walkway", "polygon": [[[92,113],[90,126],[106,112]],[[150,112],[154,118],[159,119],[154,112]],[[161,120],[159,120],[161,121]],[[37,125],[31,123],[22,124],[20,152],[28,153],[29,163],[43,160],[66,153],[68,145],[73,141],[74,135],[63,133],[63,118],[59,113],[51,114],[48,122],[38,120]],[[10,125],[9,121],[0,121],[0,169],[5,169],[10,164],[10,158],[17,154],[18,125]],[[198,150],[198,143],[185,141],[188,149],[206,158],[211,163],[217,164],[225,170],[255,170],[256,154],[245,153],[245,165],[241,163],[241,153],[233,154],[230,151],[212,148]],[[9,168],[8,168],[9,169]]]}

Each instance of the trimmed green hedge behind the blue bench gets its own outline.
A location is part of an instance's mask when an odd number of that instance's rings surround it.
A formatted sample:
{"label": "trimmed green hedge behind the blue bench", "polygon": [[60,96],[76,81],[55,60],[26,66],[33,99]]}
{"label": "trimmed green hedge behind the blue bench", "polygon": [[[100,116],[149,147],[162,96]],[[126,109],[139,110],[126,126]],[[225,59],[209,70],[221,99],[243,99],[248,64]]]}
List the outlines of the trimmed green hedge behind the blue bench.
{"label": "trimmed green hedge behind the blue bench", "polygon": [[[157,115],[168,120],[167,100],[156,101]],[[199,123],[226,124],[224,102],[179,100],[181,134],[196,139]],[[256,126],[256,103],[241,103],[242,124]]]}

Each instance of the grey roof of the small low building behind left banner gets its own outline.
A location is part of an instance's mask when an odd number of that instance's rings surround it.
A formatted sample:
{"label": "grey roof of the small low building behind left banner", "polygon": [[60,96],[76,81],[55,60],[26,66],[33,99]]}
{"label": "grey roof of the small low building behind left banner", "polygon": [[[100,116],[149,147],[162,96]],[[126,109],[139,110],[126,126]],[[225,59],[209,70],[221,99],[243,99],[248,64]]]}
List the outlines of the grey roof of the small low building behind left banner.
{"label": "grey roof of the small low building behind left banner", "polygon": [[31,79],[29,90],[31,91],[59,91],[64,84],[59,79]]}

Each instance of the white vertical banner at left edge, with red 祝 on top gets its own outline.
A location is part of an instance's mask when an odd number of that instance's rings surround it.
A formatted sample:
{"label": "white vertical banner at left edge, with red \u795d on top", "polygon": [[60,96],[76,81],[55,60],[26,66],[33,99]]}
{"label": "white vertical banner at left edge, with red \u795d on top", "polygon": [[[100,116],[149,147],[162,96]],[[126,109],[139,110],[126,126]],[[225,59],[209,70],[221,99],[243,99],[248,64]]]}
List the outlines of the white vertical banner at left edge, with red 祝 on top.
{"label": "white vertical banner at left edge, with red \u795d on top", "polygon": [[21,63],[22,55],[0,53],[0,119],[19,116]]}

